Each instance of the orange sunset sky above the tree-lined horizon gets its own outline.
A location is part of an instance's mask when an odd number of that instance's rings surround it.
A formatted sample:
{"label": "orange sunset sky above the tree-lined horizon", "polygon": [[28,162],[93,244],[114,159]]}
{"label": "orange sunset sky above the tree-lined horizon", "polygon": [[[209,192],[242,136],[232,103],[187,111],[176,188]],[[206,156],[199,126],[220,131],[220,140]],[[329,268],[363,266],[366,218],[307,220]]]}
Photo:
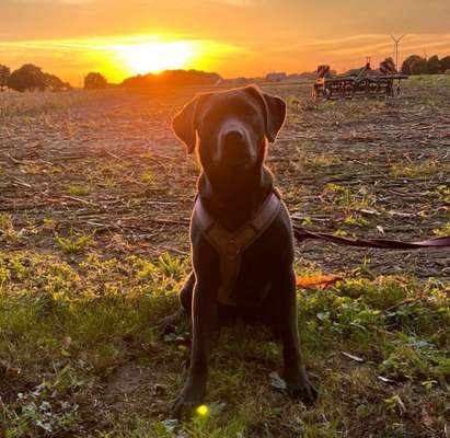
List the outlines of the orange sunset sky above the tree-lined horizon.
{"label": "orange sunset sky above the tree-lined horizon", "polygon": [[79,85],[163,68],[224,77],[358,67],[450,54],[449,0],[0,0],[0,64],[34,62]]}

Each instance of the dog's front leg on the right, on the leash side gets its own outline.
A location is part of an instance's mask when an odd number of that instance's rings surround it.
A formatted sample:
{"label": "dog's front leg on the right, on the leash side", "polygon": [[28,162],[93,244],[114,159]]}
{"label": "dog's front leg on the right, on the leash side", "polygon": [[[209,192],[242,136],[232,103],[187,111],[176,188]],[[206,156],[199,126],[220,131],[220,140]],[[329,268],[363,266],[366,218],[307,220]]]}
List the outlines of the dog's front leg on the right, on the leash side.
{"label": "dog's front leg on the right, on the leash side", "polygon": [[299,397],[307,404],[312,404],[318,392],[311,384],[300,350],[296,276],[292,269],[281,280],[279,330],[282,341],[285,359],[285,379],[288,392],[292,397]]}

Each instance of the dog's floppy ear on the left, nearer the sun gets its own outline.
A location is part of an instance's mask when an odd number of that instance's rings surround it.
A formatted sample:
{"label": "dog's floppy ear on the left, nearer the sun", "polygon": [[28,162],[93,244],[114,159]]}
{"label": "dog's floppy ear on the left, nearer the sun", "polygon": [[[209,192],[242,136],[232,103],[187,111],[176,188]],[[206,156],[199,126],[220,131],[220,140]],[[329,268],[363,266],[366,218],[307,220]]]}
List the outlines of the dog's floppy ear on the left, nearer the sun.
{"label": "dog's floppy ear on the left, nearer the sun", "polygon": [[172,129],[185,145],[188,153],[194,152],[197,143],[198,110],[204,95],[196,95],[175,114]]}

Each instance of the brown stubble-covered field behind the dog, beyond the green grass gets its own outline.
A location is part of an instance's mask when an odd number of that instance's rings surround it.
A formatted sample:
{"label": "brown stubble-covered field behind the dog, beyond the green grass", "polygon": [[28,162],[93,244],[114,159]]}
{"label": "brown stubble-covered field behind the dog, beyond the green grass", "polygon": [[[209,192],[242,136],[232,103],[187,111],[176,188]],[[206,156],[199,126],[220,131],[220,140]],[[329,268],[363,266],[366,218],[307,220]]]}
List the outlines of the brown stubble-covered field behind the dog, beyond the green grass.
{"label": "brown stubble-covered field behind the dog, beyond the green grass", "polygon": [[[450,182],[450,88],[414,82],[401,99],[319,103],[309,100],[309,85],[265,90],[289,103],[267,163],[307,228],[420,240],[449,222],[449,201],[438,187]],[[69,105],[36,104],[18,114],[7,106],[0,211],[13,214],[21,232],[8,247],[53,252],[56,234],[82,232],[95,233],[96,250],[107,256],[187,255],[198,169],[170,122],[196,91],[74,92]],[[327,184],[349,191],[350,200],[336,200]],[[88,193],[73,194],[73,185]],[[345,220],[351,215],[360,223]],[[397,253],[308,241],[299,256],[323,272],[351,270],[365,260],[373,275],[450,277],[448,251]]]}

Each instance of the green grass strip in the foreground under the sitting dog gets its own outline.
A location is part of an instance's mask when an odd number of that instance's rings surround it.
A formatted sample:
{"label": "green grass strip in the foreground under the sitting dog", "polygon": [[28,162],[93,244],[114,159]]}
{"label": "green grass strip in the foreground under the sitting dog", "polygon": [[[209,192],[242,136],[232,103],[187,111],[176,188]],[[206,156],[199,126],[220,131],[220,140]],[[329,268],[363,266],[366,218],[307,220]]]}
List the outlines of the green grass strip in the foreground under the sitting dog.
{"label": "green grass strip in the foreground under the sitting dog", "polygon": [[166,253],[153,261],[61,256],[0,253],[7,437],[312,438],[351,436],[362,424],[381,437],[393,436],[393,424],[416,430],[409,418],[423,406],[432,419],[423,436],[443,430],[447,285],[357,276],[323,290],[299,289],[299,330],[318,405],[308,410],[272,385],[282,355],[269,331],[235,326],[215,342],[206,412],[173,422],[168,406],[185,378],[187,327],[161,338],[155,326],[178,306],[187,261]]}

